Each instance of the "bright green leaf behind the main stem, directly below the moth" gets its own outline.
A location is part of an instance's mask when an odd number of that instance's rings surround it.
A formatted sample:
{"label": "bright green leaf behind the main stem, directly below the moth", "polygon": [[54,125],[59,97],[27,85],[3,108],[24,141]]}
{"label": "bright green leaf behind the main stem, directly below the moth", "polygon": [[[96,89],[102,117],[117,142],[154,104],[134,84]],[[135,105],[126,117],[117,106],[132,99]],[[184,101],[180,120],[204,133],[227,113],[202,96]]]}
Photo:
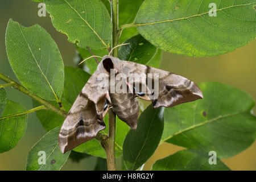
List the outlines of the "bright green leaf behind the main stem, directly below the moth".
{"label": "bright green leaf behind the main stem, directly below the moth", "polygon": [[[104,118],[106,124],[106,129],[100,131],[100,133],[108,135],[108,114]],[[121,121],[117,117],[116,126],[115,126],[115,157],[121,156],[123,154],[123,140],[129,131],[129,126]],[[106,152],[102,148],[100,142],[96,139],[89,140],[88,142],[80,144],[80,146],[74,148],[74,151],[84,152],[86,154],[98,156],[100,158],[106,158]]]}

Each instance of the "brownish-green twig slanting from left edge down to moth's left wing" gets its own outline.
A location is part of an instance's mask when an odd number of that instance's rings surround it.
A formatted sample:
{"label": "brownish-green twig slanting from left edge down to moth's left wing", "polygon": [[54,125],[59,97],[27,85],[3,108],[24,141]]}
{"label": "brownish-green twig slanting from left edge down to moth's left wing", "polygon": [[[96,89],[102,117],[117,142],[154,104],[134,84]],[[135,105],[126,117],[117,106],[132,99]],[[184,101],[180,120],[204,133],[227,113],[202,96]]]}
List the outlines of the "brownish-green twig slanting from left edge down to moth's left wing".
{"label": "brownish-green twig slanting from left edge down to moth's left wing", "polygon": [[11,78],[3,75],[2,73],[0,73],[0,79],[7,82],[7,84],[11,84],[11,86],[13,86],[13,88],[19,90],[20,92],[23,92],[24,94],[26,94],[27,96],[32,97],[34,100],[40,102],[41,104],[43,104],[44,106],[46,106],[49,110],[62,115],[63,117],[67,116],[67,113],[64,110],[60,110],[57,107],[53,106],[52,104],[49,104],[49,102],[47,102],[46,100],[44,100],[43,98],[40,98],[34,94],[32,94],[31,92],[29,92],[26,88],[24,88],[22,85],[18,84],[17,82],[15,82],[14,80],[11,80]]}

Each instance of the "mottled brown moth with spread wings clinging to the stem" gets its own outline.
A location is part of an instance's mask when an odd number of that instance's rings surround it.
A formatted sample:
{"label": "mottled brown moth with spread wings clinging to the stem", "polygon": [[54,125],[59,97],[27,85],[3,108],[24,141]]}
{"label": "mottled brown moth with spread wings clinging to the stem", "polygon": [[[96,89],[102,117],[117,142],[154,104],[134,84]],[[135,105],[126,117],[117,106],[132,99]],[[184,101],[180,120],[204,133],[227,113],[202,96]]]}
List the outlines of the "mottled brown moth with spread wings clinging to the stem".
{"label": "mottled brown moth with spread wings clinging to the stem", "polygon": [[[103,81],[98,79],[102,73],[105,75]],[[117,86],[117,81],[111,80],[118,73],[122,73],[127,78],[131,73],[139,75],[130,82],[126,79],[125,85],[122,82],[122,89],[133,92],[110,92],[111,86]],[[148,87],[148,80],[154,84],[156,82],[153,74],[158,75],[158,97],[154,97],[155,93]],[[135,85],[138,85],[137,88]],[[99,92],[99,87],[104,91]],[[146,89],[143,90],[142,87]],[[61,152],[72,150],[104,130],[103,118],[110,107],[119,119],[135,130],[139,116],[138,98],[151,101],[154,107],[172,107],[203,98],[203,94],[193,81],[180,75],[131,61],[119,60],[117,57],[104,56],[64,120],[59,133]]]}

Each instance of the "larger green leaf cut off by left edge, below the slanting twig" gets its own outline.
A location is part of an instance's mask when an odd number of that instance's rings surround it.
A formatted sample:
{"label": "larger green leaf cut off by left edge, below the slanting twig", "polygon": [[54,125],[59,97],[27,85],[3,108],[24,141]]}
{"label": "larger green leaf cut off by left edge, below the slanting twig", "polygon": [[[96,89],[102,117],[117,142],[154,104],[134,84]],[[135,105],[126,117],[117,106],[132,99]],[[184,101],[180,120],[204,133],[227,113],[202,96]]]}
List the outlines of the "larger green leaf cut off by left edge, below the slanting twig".
{"label": "larger green leaf cut off by left edge, below the slanting twig", "polygon": [[0,118],[0,153],[11,150],[22,139],[27,128],[26,109],[14,101],[7,100]]}

